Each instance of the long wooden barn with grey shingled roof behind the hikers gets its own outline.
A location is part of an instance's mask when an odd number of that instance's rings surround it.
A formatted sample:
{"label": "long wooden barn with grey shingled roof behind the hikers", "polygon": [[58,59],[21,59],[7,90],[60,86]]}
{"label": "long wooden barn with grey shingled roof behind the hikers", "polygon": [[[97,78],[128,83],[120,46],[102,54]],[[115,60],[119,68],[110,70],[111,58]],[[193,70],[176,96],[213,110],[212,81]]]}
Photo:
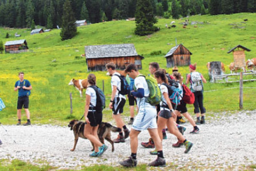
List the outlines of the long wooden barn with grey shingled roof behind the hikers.
{"label": "long wooden barn with grey shingled roof behind the hikers", "polygon": [[116,68],[124,70],[130,63],[135,63],[142,69],[143,56],[137,54],[133,44],[95,45],[85,47],[88,71],[105,71],[109,62],[116,64]]}

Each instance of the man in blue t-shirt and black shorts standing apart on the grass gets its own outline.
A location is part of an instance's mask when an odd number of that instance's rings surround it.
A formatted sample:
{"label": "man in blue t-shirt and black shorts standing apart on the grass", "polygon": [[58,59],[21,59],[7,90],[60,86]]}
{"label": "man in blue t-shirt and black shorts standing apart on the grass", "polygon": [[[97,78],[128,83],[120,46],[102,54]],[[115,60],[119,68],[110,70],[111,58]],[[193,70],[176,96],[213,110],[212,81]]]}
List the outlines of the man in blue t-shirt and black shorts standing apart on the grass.
{"label": "man in blue t-shirt and black shorts standing apart on the grass", "polygon": [[29,98],[28,96],[31,93],[32,86],[28,80],[24,79],[24,72],[19,72],[19,80],[16,81],[14,86],[14,91],[18,90],[18,101],[17,101],[17,125],[21,125],[21,110],[22,107],[25,110],[27,116],[27,122],[23,124],[24,126],[31,125],[30,122],[30,112],[28,110]]}

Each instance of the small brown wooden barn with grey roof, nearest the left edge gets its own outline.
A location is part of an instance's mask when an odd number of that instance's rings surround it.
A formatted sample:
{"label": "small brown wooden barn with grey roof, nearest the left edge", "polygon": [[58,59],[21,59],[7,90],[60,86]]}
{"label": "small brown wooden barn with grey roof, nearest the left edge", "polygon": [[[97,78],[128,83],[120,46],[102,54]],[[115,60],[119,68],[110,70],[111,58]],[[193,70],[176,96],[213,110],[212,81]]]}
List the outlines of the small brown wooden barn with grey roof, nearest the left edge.
{"label": "small brown wooden barn with grey roof, nearest the left edge", "polygon": [[4,44],[4,48],[5,48],[5,53],[8,53],[10,51],[26,50],[28,49],[28,45],[25,39],[13,40],[13,41],[7,41]]}

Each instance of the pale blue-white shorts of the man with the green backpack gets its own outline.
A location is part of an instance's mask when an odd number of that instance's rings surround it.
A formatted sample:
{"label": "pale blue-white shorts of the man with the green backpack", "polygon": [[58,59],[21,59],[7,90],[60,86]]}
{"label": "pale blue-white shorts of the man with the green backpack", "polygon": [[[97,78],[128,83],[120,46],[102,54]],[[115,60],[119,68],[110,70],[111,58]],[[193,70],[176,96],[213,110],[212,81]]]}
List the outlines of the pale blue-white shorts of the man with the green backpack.
{"label": "pale blue-white shorts of the man with the green backpack", "polygon": [[140,109],[134,119],[132,129],[136,131],[143,131],[143,130],[152,129],[152,128],[157,128],[156,109],[155,108]]}

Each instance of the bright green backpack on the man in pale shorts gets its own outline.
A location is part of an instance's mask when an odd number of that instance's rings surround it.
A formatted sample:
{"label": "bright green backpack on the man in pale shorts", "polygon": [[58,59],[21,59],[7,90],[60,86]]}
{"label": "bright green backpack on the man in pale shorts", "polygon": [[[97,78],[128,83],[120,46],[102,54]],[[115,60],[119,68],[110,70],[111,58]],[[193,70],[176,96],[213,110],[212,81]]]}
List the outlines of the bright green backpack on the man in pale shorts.
{"label": "bright green backpack on the man in pale shorts", "polygon": [[161,91],[157,85],[156,79],[151,76],[146,77],[142,74],[139,74],[137,77],[140,76],[145,77],[149,89],[149,96],[146,97],[146,102],[150,103],[152,106],[159,104],[161,101]]}

